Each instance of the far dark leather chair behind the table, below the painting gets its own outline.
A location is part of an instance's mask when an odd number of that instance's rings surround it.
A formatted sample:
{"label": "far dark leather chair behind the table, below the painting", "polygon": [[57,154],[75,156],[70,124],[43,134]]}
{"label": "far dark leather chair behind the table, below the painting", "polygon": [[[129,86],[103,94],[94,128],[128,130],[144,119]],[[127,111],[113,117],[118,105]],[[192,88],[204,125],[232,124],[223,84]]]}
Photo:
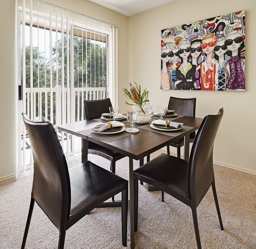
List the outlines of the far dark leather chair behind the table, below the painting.
{"label": "far dark leather chair behind the table, below the painting", "polygon": [[[183,116],[195,117],[195,102],[196,98],[176,98],[171,96],[169,99],[168,109],[175,110],[175,113]],[[189,142],[192,143],[194,139],[195,131],[190,133]],[[170,143],[170,145],[167,145],[167,154],[170,155],[169,146],[173,146],[177,148],[177,157],[180,158],[180,148],[183,145],[184,138],[180,138],[177,141]]]}

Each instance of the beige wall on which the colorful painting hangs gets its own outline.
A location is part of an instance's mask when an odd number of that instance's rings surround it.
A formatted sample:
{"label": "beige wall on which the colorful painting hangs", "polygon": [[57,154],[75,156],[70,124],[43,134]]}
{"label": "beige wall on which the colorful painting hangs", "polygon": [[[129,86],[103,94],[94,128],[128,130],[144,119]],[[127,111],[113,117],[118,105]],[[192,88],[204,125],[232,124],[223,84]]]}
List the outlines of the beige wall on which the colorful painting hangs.
{"label": "beige wall on which the colorful painting hangs", "polygon": [[[211,92],[160,90],[161,29],[246,10],[246,91]],[[216,163],[256,174],[256,1],[175,0],[129,17],[129,81],[150,91],[153,105],[168,104],[170,96],[197,98],[196,116],[215,114],[224,107],[224,117],[215,140]]]}

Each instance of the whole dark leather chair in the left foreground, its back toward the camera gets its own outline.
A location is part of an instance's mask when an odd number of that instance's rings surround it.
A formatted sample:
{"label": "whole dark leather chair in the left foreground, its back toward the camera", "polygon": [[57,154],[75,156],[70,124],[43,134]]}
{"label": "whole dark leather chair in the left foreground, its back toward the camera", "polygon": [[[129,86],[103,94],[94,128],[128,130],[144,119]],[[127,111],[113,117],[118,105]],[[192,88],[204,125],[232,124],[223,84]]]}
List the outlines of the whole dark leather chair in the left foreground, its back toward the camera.
{"label": "whole dark leather chair in the left foreground, its back toward the camera", "polygon": [[25,248],[35,202],[58,228],[58,249],[63,249],[66,230],[119,192],[122,192],[122,244],[126,246],[128,181],[90,161],[68,169],[52,124],[30,121],[25,113],[23,121],[32,146],[34,176],[21,249]]}

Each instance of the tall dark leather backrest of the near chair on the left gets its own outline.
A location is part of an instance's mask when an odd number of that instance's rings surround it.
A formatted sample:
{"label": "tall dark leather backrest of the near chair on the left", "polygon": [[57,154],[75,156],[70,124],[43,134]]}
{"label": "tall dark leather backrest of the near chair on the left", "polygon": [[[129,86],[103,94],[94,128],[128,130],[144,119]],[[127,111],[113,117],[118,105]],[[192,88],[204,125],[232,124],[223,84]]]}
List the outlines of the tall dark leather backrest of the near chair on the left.
{"label": "tall dark leather backrest of the near chair on the left", "polygon": [[31,142],[34,159],[32,198],[62,229],[70,214],[70,178],[67,161],[58,136],[49,122],[33,122],[26,113],[23,121]]}

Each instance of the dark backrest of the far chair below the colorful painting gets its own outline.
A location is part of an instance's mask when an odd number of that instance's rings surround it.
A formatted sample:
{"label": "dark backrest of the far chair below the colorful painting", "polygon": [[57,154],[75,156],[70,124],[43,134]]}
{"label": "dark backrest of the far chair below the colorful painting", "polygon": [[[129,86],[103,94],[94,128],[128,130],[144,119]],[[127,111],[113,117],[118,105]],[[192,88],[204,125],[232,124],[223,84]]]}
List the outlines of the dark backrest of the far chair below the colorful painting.
{"label": "dark backrest of the far chair below the colorful painting", "polygon": [[170,97],[168,109],[175,110],[177,114],[195,117],[196,98],[175,98]]}

